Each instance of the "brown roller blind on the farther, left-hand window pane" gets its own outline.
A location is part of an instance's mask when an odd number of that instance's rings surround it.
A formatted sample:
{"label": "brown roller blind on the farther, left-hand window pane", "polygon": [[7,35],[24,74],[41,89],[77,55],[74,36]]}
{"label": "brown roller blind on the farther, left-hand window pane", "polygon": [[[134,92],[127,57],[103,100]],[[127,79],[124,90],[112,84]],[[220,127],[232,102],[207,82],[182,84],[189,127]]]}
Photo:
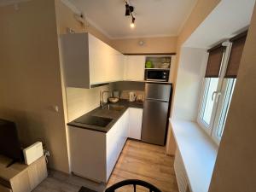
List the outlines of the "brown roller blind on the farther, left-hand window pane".
{"label": "brown roller blind on the farther, left-hand window pane", "polygon": [[224,47],[218,45],[212,49],[208,49],[209,57],[207,62],[206,78],[218,78],[221,61],[224,53]]}

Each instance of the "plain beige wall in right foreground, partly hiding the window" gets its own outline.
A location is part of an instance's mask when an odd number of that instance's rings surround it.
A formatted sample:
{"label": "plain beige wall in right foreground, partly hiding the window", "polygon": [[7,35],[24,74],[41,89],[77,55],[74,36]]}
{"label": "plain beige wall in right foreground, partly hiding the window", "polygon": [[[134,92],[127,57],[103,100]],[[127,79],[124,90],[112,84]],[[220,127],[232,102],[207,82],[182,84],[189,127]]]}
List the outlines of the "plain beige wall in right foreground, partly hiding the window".
{"label": "plain beige wall in right foreground, partly hiding the window", "polygon": [[210,192],[256,189],[256,7],[218,149]]}

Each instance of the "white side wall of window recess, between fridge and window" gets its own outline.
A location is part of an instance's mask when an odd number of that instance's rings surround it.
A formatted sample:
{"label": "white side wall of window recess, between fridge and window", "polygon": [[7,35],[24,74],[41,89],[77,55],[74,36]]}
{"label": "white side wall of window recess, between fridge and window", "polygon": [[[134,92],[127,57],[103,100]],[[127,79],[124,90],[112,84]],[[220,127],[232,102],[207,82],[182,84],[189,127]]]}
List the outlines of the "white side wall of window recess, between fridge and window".
{"label": "white side wall of window recess, between fridge and window", "polygon": [[196,120],[207,55],[206,49],[182,48],[177,69],[173,119]]}

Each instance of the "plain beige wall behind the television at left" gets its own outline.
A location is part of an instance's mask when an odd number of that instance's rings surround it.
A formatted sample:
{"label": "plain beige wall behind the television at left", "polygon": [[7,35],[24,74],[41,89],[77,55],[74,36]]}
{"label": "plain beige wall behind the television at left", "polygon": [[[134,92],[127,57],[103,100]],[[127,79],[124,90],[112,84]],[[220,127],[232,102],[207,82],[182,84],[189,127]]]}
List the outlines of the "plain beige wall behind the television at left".
{"label": "plain beige wall behind the television at left", "polygon": [[0,117],[15,120],[22,143],[43,141],[49,166],[68,172],[55,4],[19,8],[0,8]]}

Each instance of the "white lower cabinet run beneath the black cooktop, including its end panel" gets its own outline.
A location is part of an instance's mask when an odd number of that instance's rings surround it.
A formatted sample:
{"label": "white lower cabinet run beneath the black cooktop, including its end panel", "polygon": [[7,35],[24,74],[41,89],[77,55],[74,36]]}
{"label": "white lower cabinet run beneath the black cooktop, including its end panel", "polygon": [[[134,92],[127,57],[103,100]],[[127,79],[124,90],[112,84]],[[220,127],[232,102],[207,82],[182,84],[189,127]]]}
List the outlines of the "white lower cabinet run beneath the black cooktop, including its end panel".
{"label": "white lower cabinet run beneath the black cooktop, including its end panel", "polygon": [[128,137],[128,123],[129,109],[107,133],[69,126],[72,172],[107,183]]}

